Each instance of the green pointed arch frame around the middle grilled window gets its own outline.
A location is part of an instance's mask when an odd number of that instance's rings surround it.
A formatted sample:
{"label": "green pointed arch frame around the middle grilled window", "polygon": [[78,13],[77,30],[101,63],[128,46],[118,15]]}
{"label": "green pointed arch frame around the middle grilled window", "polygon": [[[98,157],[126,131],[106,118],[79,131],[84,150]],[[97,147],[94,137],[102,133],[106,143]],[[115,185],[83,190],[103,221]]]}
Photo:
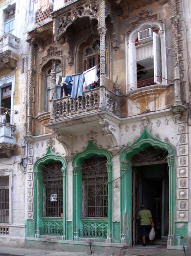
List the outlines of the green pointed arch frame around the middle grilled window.
{"label": "green pointed arch frame around the middle grilled window", "polygon": [[[82,170],[81,164],[84,159],[92,156],[105,156],[107,158],[106,168],[108,173],[108,218],[107,218],[107,238],[106,242],[112,242],[112,154],[105,149],[97,148],[93,140],[89,141],[87,148],[76,154],[72,161],[73,166],[73,239],[79,240],[79,229],[82,226],[81,209],[82,209]],[[93,222],[100,222],[94,218]]]}

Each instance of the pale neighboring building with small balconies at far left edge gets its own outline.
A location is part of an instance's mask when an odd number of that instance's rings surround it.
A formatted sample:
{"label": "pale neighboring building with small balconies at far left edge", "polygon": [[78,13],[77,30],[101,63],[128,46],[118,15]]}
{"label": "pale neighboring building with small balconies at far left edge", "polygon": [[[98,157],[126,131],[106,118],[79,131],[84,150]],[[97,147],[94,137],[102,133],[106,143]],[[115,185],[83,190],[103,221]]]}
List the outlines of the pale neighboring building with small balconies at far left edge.
{"label": "pale neighboring building with small balconies at far left edge", "polygon": [[[26,9],[0,1],[0,243],[24,246]],[[22,162],[23,159],[23,162]]]}

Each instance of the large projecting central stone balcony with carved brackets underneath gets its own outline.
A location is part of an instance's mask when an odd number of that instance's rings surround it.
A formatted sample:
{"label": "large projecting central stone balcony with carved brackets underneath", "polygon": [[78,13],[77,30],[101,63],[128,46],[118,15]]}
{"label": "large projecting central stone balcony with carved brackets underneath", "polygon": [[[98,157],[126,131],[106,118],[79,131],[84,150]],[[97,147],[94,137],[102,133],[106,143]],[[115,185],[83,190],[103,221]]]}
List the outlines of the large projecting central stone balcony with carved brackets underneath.
{"label": "large projecting central stone balcony with carved brackets underneath", "polygon": [[69,144],[65,143],[65,139],[72,140],[73,135],[84,131],[85,127],[86,130],[100,131],[103,127],[106,134],[112,134],[118,129],[119,111],[120,96],[99,87],[83,92],[81,98],[71,99],[67,96],[54,100],[50,121],[45,126],[58,134],[57,139],[62,144]]}

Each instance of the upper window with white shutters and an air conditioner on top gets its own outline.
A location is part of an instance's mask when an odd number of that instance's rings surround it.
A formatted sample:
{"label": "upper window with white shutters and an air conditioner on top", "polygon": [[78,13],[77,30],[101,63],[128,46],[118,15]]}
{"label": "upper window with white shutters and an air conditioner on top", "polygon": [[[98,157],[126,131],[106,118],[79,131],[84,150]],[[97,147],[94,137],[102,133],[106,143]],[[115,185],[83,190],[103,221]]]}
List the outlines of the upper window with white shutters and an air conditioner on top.
{"label": "upper window with white shutters and an air conditioner on top", "polygon": [[129,40],[128,90],[163,83],[163,54],[158,32],[158,28],[145,28]]}

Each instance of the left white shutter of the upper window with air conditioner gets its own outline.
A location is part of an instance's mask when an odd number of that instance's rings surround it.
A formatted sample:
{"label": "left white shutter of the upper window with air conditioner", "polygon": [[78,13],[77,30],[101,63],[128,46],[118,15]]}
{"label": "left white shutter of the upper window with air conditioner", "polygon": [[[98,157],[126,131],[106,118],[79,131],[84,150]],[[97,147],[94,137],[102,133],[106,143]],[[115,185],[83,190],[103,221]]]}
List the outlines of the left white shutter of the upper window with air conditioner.
{"label": "left white shutter of the upper window with air conditioner", "polygon": [[130,87],[136,86],[137,82],[137,62],[136,48],[132,41],[129,41],[129,84]]}

